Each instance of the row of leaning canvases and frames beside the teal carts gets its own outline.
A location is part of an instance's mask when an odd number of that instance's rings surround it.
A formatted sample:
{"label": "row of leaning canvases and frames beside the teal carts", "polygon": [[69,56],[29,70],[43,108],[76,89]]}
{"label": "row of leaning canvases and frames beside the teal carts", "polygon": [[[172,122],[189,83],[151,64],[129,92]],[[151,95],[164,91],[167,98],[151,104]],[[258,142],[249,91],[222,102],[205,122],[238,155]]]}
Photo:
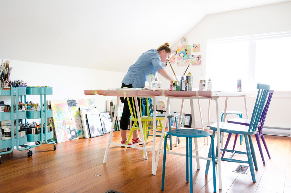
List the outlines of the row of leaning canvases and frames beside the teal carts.
{"label": "row of leaning canvases and frames beside the teal carts", "polygon": [[111,129],[109,112],[99,112],[94,99],[48,101],[53,110],[50,122],[57,143],[79,138],[90,138]]}

